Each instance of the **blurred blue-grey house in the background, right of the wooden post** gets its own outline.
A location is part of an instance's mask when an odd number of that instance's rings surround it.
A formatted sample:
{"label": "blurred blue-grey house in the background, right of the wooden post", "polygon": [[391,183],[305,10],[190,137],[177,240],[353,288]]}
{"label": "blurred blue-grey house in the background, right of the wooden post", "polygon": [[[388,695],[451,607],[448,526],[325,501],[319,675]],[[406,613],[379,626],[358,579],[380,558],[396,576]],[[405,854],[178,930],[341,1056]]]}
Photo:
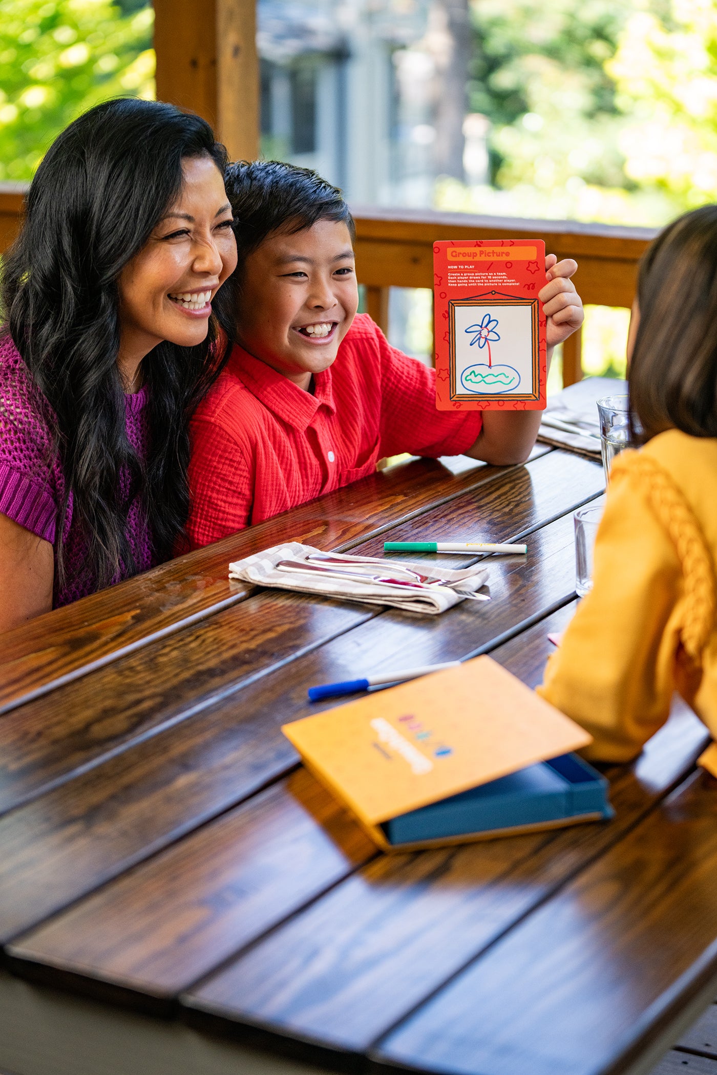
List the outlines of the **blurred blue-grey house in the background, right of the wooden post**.
{"label": "blurred blue-grey house in the background, right of the wooden post", "polygon": [[468,0],[259,0],[258,26],[266,156],[355,204],[428,206],[438,175],[463,180]]}

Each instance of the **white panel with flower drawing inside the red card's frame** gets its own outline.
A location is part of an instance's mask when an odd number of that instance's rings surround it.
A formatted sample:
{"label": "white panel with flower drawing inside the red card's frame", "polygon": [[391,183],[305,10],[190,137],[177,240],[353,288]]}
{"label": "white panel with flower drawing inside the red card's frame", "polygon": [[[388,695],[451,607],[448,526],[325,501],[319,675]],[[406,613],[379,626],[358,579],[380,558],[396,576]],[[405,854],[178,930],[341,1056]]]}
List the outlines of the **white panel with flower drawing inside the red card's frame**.
{"label": "white panel with flower drawing inside the red card's frame", "polygon": [[476,395],[533,391],[529,304],[455,306],[456,384]]}

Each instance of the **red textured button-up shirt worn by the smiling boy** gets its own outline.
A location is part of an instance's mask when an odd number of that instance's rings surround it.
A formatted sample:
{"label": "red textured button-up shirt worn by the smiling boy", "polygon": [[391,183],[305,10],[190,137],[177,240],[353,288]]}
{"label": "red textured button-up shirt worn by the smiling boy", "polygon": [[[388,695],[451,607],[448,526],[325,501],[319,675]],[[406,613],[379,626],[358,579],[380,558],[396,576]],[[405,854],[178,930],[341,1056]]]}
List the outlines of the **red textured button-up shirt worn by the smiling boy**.
{"label": "red textured button-up shirt worn by the smiling boy", "polygon": [[435,408],[435,371],[359,315],[314,391],[235,346],[191,422],[192,548],[372,474],[384,456],[457,456],[481,414]]}

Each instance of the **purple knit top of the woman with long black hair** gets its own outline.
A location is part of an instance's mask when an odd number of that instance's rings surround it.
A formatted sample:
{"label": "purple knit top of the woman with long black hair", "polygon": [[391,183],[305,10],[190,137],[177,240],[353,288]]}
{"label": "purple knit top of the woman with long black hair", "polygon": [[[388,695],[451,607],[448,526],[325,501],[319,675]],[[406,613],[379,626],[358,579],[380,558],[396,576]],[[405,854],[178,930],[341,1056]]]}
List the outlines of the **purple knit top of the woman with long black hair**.
{"label": "purple knit top of the woman with long black hair", "polygon": [[[127,438],[140,459],[146,459],[148,427],[147,389],[126,396]],[[6,333],[0,336],[0,512],[44,538],[57,548],[57,522],[64,494],[61,461],[53,449],[53,412],[34,385],[17,347]],[[129,484],[129,474],[120,483]],[[152,540],[139,500],[127,517],[127,538],[138,571],[154,562]],[[53,606],[69,604],[92,593],[97,583],[83,571],[86,541],[72,513],[72,493],[63,525],[64,584],[55,572]],[[117,572],[113,583],[126,577]]]}

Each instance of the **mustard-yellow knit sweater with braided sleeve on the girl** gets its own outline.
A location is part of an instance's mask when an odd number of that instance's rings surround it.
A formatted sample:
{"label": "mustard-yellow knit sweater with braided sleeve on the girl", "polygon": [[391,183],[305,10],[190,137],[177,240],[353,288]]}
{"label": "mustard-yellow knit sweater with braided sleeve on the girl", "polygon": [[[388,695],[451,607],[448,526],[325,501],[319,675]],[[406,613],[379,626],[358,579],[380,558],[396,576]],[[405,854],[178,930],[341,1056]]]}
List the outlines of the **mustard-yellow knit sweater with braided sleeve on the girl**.
{"label": "mustard-yellow knit sweater with braided sleeve on the girl", "polygon": [[539,693],[628,761],[678,691],[717,739],[717,440],[670,430],[613,464],[594,585]]}

